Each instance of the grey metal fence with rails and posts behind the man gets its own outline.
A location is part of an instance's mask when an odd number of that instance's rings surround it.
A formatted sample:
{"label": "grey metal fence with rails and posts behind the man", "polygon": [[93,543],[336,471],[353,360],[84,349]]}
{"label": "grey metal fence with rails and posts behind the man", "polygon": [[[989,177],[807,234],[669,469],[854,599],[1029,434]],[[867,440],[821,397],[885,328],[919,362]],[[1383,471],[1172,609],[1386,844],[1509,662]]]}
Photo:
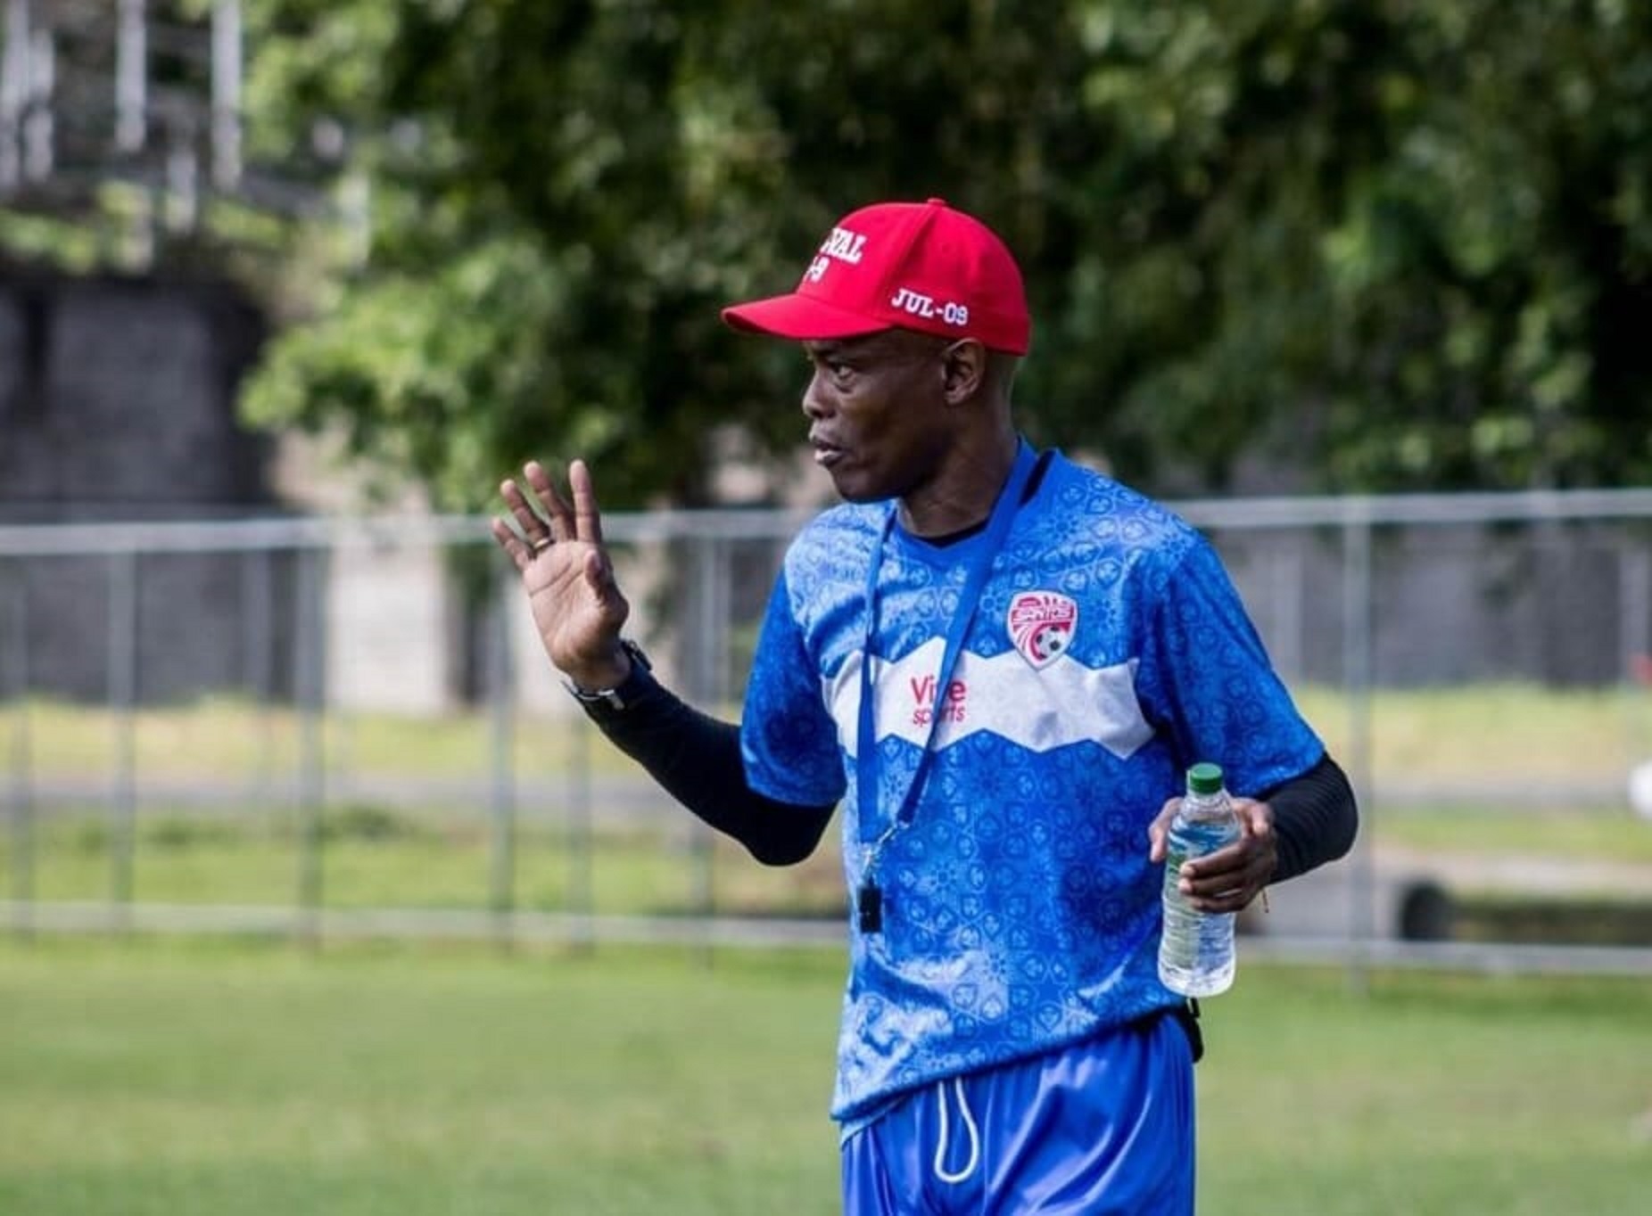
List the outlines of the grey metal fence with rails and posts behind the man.
{"label": "grey metal fence with rails and posts behind the man", "polygon": [[[1317,896],[1317,931],[1269,929],[1259,950],[1355,965],[1652,970],[1649,944],[1404,940],[1393,924],[1403,876],[1378,866],[1386,807],[1465,797],[1599,805],[1621,797],[1621,769],[1561,762],[1543,777],[1450,787],[1441,777],[1383,769],[1373,752],[1379,690],[1416,685],[1417,672],[1457,672],[1446,685],[1558,678],[1624,691],[1631,658],[1652,653],[1652,492],[1173,507],[1222,549],[1287,681],[1332,690],[1341,701],[1338,757],[1361,794],[1361,841],[1320,876],[1335,883]],[[691,700],[732,711],[768,581],[805,518],[719,510],[605,521],[639,630]],[[1396,615],[1408,606],[1409,614]],[[1455,617],[1446,606],[1455,606]],[[349,744],[352,723],[408,709],[375,701],[375,690],[400,690],[431,673],[448,675],[425,678],[420,703],[403,716],[466,721],[466,754],[441,771],[421,771],[387,766]],[[263,731],[266,742],[284,733],[282,742],[225,749],[236,756],[216,764],[155,764],[145,731],[202,696],[230,698],[249,731]],[[403,698],[398,691],[385,700]],[[104,746],[50,744],[43,714],[83,731],[96,723]],[[780,883],[732,899],[730,883],[748,881],[742,870],[720,863],[709,835],[646,777],[601,752],[605,744],[570,711],[537,653],[514,571],[492,551],[481,518],[0,526],[0,721],[8,855],[0,916],[15,932],[702,944],[841,937],[831,899],[818,893],[801,912],[786,898],[765,904],[785,894]],[[1637,759],[1640,741],[1631,734],[1624,766]],[[48,754],[53,746],[63,754]],[[81,756],[88,751],[96,754]],[[469,898],[443,906],[400,898],[373,906],[340,891],[329,883],[329,855],[339,848],[332,828],[340,805],[363,804],[458,822],[482,881]],[[185,812],[244,818],[249,807],[279,818],[289,833],[289,883],[254,901],[145,898],[137,881],[140,848],[152,848],[145,823]],[[83,848],[91,833],[104,855],[101,891],[84,874],[41,886],[69,822],[81,823]],[[669,870],[681,874],[681,888],[669,898],[605,901],[598,879],[610,865],[605,841],[615,835],[654,855],[616,865]],[[552,865],[562,871],[552,894],[522,889],[527,838],[540,873]]]}

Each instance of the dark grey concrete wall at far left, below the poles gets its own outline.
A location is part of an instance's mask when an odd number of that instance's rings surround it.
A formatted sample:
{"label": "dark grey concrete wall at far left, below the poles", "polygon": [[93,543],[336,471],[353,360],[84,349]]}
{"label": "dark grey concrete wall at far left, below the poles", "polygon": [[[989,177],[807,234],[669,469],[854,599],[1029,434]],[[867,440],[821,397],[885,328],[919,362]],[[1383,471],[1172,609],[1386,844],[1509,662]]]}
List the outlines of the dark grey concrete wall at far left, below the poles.
{"label": "dark grey concrete wall at far left, below the poles", "polygon": [[[268,444],[235,419],[264,323],[223,284],[69,279],[0,266],[0,523],[202,520],[278,508]],[[36,691],[101,698],[111,606],[139,620],[140,700],[289,683],[291,563],[145,558],[131,587],[102,558],[12,563],[0,599],[28,635]],[[251,597],[268,597],[253,604]],[[246,622],[273,614],[254,653]]]}

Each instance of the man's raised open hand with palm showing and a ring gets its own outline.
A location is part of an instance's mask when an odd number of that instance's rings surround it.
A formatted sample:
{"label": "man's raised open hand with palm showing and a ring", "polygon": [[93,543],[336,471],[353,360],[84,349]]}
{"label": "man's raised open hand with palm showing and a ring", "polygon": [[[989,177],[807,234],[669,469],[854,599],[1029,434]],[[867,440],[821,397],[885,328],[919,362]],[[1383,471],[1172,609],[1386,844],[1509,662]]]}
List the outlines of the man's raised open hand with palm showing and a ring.
{"label": "man's raised open hand with palm showing and a ring", "polygon": [[620,648],[631,604],[620,592],[603,548],[591,474],[583,460],[568,465],[572,507],[537,460],[522,467],[522,482],[527,492],[510,478],[499,485],[515,526],[496,515],[494,540],[522,573],[534,625],[550,662],[582,688],[613,688],[631,670]]}

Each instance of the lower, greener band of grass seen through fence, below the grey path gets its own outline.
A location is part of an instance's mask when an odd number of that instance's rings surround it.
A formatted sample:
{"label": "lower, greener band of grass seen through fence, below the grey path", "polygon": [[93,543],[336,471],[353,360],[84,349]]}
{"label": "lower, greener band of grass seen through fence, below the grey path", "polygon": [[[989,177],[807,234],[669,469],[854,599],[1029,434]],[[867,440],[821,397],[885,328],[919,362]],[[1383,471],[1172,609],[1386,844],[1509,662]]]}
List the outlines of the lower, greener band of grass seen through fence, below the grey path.
{"label": "lower, greener band of grass seen through fence, below the grey path", "polygon": [[[322,899],[332,907],[486,907],[494,840],[484,817],[329,808]],[[615,830],[588,841],[529,818],[514,833],[510,898],[532,911],[674,914],[705,888],[725,912],[818,916],[843,903],[836,832],[806,865],[765,870],[729,841],[691,838],[691,820]],[[1548,861],[1652,866],[1652,825],[1616,807],[1521,810],[1495,805],[1383,808],[1366,832],[1386,846],[1437,861],[1518,855]],[[55,813],[33,830],[28,878],[17,840],[0,832],[0,899],[31,884],[36,899],[96,901],[114,888],[107,812]],[[299,835],[291,815],[183,815],[145,810],[135,827],[132,896],[155,903],[292,904]],[[1645,894],[1652,896],[1652,889]]]}

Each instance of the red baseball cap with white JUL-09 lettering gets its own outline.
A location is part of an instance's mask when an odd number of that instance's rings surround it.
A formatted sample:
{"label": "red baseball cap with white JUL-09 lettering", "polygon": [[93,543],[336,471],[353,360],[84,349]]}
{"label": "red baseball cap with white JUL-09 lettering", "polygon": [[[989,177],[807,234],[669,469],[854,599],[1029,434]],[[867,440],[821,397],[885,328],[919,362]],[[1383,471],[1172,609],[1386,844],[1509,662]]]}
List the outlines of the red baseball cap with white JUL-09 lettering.
{"label": "red baseball cap with white JUL-09 lettering", "polygon": [[722,312],[737,330],[809,342],[892,327],[1026,355],[1026,287],[1009,247],[940,198],[874,203],[839,219],[796,290]]}

